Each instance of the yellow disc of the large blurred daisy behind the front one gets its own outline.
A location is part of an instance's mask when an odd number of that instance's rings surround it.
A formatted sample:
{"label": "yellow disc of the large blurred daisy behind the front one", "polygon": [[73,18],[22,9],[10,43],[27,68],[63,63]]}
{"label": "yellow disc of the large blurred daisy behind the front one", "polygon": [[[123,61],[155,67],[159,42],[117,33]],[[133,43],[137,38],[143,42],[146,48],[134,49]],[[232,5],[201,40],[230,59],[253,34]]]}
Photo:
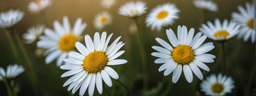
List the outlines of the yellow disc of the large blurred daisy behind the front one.
{"label": "yellow disc of the large blurred daisy behind the front one", "polygon": [[63,36],[59,40],[59,48],[64,52],[72,51],[76,47],[75,46],[76,41],[77,41],[77,38],[73,34],[68,34],[66,36]]}

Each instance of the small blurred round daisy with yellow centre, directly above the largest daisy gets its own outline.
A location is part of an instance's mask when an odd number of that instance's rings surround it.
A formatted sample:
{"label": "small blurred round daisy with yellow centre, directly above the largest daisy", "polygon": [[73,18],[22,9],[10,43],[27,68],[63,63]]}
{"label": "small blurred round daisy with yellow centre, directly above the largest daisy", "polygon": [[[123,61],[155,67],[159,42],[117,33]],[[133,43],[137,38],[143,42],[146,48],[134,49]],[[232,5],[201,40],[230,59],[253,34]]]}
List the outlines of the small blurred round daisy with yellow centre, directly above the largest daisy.
{"label": "small blurred round daisy with yellow centre, directly above the largest daisy", "polygon": [[98,30],[101,30],[105,26],[112,24],[112,16],[108,12],[104,11],[104,12],[98,13],[95,16],[95,19],[93,22],[94,22],[95,28]]}

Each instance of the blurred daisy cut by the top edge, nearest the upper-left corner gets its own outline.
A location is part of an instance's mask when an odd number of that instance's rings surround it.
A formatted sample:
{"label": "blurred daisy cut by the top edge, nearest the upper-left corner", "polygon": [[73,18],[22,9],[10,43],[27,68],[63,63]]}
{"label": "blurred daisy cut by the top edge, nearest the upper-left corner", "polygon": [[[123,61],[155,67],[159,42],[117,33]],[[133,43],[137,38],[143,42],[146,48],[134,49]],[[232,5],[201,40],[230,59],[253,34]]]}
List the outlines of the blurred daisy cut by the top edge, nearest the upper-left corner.
{"label": "blurred daisy cut by the top edge, nearest the upper-left corner", "polygon": [[52,4],[51,0],[35,0],[32,2],[29,2],[29,11],[31,14],[37,14],[41,10],[44,10],[46,7],[50,7]]}

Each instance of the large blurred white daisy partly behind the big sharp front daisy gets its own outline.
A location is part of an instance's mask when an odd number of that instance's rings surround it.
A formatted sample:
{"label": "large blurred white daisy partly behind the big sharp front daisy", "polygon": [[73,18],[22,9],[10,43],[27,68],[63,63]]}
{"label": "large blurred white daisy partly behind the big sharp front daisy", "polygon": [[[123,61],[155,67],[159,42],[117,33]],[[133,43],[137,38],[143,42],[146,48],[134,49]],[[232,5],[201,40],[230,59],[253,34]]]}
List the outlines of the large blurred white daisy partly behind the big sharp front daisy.
{"label": "large blurred white daisy partly behind the big sharp front daisy", "polygon": [[80,40],[86,26],[86,23],[82,23],[82,18],[78,18],[72,29],[68,17],[64,16],[63,26],[55,20],[54,30],[45,28],[45,36],[40,36],[37,42],[37,47],[47,49],[45,63],[49,64],[57,58],[56,65],[61,66],[62,59],[67,58],[68,52],[74,51],[75,43]]}

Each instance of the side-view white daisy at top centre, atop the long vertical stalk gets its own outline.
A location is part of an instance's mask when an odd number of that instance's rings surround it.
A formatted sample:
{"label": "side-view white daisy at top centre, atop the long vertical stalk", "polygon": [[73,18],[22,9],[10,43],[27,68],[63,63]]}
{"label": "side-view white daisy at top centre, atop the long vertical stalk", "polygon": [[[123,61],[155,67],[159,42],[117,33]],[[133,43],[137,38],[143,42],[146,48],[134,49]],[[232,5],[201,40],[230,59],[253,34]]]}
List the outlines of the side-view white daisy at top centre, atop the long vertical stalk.
{"label": "side-view white daisy at top centre, atop the long vertical stalk", "polygon": [[123,6],[119,8],[118,14],[128,16],[130,18],[137,18],[142,14],[146,13],[147,7],[145,6],[146,3],[142,1],[126,2]]}

